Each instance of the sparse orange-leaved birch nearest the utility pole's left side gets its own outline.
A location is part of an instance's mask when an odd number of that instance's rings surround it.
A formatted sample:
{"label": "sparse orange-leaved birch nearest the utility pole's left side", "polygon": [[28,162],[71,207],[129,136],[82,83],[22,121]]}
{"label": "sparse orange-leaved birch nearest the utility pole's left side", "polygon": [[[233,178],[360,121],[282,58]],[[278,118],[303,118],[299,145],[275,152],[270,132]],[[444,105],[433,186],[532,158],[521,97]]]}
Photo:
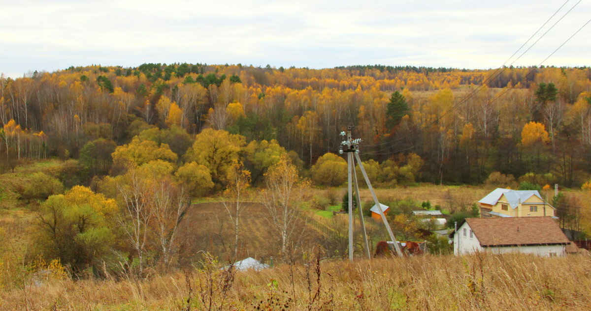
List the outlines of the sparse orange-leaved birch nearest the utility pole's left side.
{"label": "sparse orange-leaved birch nearest the utility pole's left side", "polygon": [[261,203],[267,208],[272,226],[278,231],[282,256],[293,239],[300,219],[300,203],[306,198],[310,181],[299,176],[290,158],[281,160],[265,173],[266,188],[261,191]]}

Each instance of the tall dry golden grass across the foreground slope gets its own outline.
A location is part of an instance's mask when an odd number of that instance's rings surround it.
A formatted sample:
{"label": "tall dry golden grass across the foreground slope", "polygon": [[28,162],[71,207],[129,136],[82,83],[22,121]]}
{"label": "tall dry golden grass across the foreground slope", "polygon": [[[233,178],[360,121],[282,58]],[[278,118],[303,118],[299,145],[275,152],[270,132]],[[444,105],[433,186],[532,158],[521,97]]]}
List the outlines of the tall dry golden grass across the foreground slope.
{"label": "tall dry golden grass across the foreground slope", "polygon": [[261,272],[200,268],[144,280],[47,280],[0,310],[590,310],[591,256],[420,256]]}

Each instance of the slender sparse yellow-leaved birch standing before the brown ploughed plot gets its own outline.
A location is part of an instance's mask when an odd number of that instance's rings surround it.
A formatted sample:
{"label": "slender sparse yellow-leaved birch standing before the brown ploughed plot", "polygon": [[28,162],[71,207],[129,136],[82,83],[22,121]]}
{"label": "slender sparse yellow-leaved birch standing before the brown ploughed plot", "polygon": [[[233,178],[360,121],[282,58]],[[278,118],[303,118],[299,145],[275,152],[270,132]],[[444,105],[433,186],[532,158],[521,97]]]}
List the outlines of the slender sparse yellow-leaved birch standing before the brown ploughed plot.
{"label": "slender sparse yellow-leaved birch standing before the brown ploughed plot", "polygon": [[238,242],[240,229],[240,213],[245,207],[246,189],[251,183],[251,172],[244,168],[242,162],[234,161],[228,170],[228,188],[224,191],[223,206],[228,211],[230,221],[234,227],[234,257],[238,256]]}

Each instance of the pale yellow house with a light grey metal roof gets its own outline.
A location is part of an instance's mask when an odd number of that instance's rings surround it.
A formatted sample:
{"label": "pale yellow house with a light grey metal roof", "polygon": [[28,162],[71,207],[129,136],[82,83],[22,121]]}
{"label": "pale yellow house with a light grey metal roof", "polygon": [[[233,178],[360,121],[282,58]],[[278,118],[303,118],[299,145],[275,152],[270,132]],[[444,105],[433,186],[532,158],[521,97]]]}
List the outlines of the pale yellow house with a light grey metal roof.
{"label": "pale yellow house with a light grey metal roof", "polygon": [[480,201],[480,217],[554,216],[556,209],[537,190],[496,188]]}

